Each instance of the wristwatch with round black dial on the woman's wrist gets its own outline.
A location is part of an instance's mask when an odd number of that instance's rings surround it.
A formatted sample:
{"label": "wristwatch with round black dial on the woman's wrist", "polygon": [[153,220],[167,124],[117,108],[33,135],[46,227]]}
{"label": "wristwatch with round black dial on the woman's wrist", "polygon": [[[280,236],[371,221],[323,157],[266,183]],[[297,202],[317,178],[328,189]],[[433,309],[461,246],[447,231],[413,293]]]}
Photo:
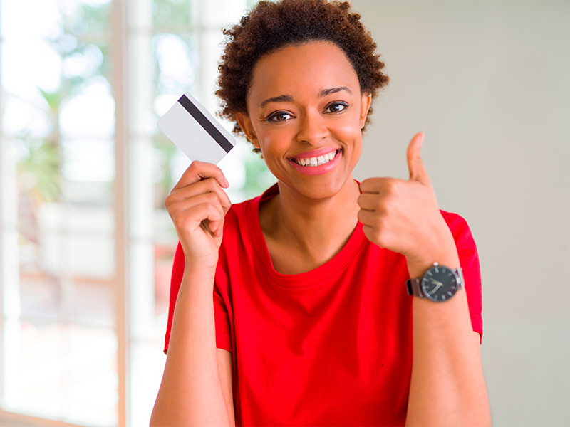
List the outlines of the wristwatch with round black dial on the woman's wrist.
{"label": "wristwatch with round black dial on the woman's wrist", "polygon": [[460,268],[449,268],[433,263],[423,277],[406,282],[408,295],[427,298],[434,302],[445,302],[463,287],[463,273]]}

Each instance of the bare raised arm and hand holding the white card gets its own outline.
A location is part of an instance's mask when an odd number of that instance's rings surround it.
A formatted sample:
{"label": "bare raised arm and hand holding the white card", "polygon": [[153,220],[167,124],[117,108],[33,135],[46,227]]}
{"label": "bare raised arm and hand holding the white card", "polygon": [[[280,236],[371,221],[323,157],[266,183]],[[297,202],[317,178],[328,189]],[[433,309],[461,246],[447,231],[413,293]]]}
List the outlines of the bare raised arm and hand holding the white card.
{"label": "bare raised arm and hand holding the white card", "polygon": [[151,426],[235,425],[228,369],[218,368],[228,358],[218,362],[213,303],[217,251],[230,206],[222,186],[227,181],[219,168],[192,162],[167,198],[185,253],[185,272]]}

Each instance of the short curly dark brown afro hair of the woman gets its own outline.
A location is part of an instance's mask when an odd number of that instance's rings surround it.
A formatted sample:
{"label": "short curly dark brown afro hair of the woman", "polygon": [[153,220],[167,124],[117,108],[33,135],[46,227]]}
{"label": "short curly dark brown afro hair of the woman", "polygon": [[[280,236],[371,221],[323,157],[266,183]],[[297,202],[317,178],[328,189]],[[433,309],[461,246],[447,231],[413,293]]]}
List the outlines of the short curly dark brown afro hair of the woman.
{"label": "short curly dark brown afro hair of the woman", "polygon": [[[242,130],[235,115],[247,113],[247,90],[259,58],[311,41],[331,41],[341,48],[356,70],[362,93],[371,93],[374,98],[389,79],[382,73],[384,63],[375,53],[376,43],[360,19],[351,12],[348,1],[260,1],[238,24],[223,30],[225,49],[218,65],[216,91],[222,100],[219,115],[233,121],[234,132],[239,135]],[[372,108],[368,117],[371,112]]]}

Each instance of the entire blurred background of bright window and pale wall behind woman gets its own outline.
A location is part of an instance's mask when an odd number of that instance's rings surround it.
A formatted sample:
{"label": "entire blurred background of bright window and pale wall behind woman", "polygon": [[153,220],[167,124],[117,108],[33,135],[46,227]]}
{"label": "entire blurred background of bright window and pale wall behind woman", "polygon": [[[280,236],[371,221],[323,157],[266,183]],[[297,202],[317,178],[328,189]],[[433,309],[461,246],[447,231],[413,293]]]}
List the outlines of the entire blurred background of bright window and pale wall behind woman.
{"label": "entire blurred background of bright window and pale wall behind woman", "polygon": [[[254,3],[0,0],[0,426],[148,424],[189,164],[156,122],[185,91],[217,110]],[[406,178],[425,132],[480,251],[494,425],[570,425],[570,2],[352,4],[391,79],[356,178]],[[243,140],[220,167],[234,203],[274,182]]]}

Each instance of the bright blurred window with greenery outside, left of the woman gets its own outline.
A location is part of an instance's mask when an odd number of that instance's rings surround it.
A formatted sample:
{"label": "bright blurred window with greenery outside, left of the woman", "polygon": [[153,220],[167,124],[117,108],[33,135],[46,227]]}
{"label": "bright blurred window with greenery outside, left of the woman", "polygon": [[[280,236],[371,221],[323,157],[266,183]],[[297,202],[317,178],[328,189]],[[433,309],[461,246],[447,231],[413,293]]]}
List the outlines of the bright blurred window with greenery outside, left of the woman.
{"label": "bright blurred window with greenery outside, left of the woman", "polygon": [[[177,245],[164,201],[190,164],[156,122],[185,91],[217,110],[220,29],[253,3],[0,0],[0,416],[147,425]],[[274,182],[243,140],[219,166],[234,203]]]}

